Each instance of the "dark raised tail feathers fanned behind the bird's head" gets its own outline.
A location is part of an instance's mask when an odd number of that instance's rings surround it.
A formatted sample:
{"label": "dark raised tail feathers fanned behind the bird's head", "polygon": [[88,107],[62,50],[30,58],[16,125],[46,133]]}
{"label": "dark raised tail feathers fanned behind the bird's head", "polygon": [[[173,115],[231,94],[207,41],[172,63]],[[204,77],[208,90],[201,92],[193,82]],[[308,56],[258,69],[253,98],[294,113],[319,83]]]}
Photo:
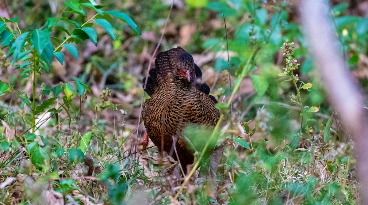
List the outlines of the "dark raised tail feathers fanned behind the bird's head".
{"label": "dark raised tail feathers fanned behind the bird's head", "polygon": [[[178,54],[181,52],[187,52],[181,47],[177,48],[171,48],[170,50],[160,52],[156,56],[155,60],[155,68],[152,68],[149,70],[149,76],[146,84],[146,88],[144,91],[151,96],[153,94],[153,89],[158,86],[161,82],[166,81],[167,74],[173,71],[174,66],[177,63]],[[199,82],[196,84],[196,86],[199,88],[200,91],[205,93],[206,95],[209,94],[209,87],[206,83],[202,82],[202,71],[201,68],[198,67],[197,64],[194,64],[195,66],[195,75],[196,75],[196,82]],[[143,87],[145,83],[146,78],[143,78]],[[215,103],[217,103],[217,100],[213,96],[209,96]]]}

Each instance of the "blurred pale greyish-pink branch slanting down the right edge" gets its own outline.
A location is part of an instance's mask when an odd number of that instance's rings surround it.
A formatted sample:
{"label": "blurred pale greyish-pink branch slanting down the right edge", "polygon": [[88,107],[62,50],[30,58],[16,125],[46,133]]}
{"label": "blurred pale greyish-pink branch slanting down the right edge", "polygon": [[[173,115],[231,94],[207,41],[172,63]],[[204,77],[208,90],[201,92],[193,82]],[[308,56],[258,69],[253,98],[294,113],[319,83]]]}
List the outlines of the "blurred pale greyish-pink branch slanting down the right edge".
{"label": "blurred pale greyish-pink branch slanting down the right edge", "polygon": [[361,203],[368,203],[368,120],[363,109],[364,97],[358,91],[337,47],[335,30],[325,1],[301,1],[302,25],[310,43],[311,53],[324,78],[330,101],[337,108],[345,129],[356,144]]}

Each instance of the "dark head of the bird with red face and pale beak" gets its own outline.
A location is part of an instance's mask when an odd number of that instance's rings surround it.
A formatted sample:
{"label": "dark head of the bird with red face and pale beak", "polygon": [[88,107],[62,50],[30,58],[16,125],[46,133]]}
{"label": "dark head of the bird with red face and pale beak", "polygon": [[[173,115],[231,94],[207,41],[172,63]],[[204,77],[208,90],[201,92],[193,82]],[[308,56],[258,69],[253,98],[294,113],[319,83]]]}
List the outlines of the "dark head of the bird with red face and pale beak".
{"label": "dark head of the bird with red face and pale beak", "polygon": [[195,81],[194,60],[191,54],[187,52],[180,52],[178,54],[178,61],[176,68],[174,68],[174,75],[185,82]]}

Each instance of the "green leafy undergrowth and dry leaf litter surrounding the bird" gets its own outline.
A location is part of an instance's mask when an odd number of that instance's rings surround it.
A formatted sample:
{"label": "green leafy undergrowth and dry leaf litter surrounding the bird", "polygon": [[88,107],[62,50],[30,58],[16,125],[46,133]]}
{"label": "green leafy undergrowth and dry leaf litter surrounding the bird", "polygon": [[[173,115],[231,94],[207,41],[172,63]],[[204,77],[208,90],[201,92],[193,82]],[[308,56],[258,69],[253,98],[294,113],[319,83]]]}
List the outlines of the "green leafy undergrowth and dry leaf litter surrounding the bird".
{"label": "green leafy undergrowth and dry leaf litter surrounding the bird", "polygon": [[[170,10],[162,1],[6,2],[0,204],[358,204],[354,143],[314,69],[297,3],[187,0],[160,30]],[[347,14],[347,3],[332,5],[360,78],[368,22]],[[138,152],[148,97],[139,82],[160,32],[160,50],[197,54],[219,101],[214,131],[188,134],[191,143],[219,136],[215,181],[197,178],[202,150],[183,178],[146,160],[161,160],[152,144]]]}

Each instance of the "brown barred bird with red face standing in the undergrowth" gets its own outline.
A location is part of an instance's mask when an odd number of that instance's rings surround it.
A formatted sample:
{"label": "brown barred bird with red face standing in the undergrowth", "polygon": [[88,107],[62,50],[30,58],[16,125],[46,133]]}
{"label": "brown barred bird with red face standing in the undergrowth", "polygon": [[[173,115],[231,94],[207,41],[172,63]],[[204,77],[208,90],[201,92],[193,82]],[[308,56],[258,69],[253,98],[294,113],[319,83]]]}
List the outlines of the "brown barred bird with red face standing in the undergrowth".
{"label": "brown barred bird with red face standing in the undergrowth", "polygon": [[184,128],[192,123],[213,127],[219,121],[220,111],[215,108],[215,97],[208,95],[208,85],[201,82],[201,69],[183,48],[159,53],[155,65],[144,88],[151,96],[142,110],[146,132],[160,152],[173,153],[173,136],[178,139],[175,146],[186,173],[187,165],[194,162],[194,150],[185,143]]}

